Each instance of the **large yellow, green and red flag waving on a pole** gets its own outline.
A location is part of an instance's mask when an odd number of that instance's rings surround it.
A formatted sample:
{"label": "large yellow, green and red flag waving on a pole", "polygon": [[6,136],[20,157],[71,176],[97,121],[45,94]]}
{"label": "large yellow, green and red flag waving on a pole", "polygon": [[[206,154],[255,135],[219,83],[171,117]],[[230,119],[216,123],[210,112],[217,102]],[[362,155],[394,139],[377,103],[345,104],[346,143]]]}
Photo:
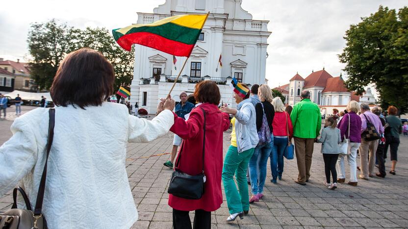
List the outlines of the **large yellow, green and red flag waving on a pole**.
{"label": "large yellow, green and red flag waving on a pole", "polygon": [[189,57],[208,14],[178,15],[149,24],[132,24],[112,31],[116,42],[130,51],[132,44]]}

